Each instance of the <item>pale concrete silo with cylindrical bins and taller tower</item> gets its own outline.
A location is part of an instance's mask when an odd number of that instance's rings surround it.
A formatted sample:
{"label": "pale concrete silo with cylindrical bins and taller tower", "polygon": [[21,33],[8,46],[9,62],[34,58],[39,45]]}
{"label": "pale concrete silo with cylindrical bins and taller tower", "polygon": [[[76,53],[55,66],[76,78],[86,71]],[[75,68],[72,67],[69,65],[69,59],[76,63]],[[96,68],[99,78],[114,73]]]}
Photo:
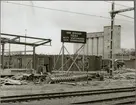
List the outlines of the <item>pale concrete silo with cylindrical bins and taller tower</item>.
{"label": "pale concrete silo with cylindrical bins and taller tower", "polygon": [[[81,54],[85,55],[98,55],[102,56],[104,59],[110,59],[110,36],[111,27],[104,26],[103,32],[92,32],[87,33],[87,44],[85,45],[84,52]],[[74,44],[74,53],[82,44]],[[114,26],[113,35],[113,53],[116,54],[121,50],[121,26]]]}

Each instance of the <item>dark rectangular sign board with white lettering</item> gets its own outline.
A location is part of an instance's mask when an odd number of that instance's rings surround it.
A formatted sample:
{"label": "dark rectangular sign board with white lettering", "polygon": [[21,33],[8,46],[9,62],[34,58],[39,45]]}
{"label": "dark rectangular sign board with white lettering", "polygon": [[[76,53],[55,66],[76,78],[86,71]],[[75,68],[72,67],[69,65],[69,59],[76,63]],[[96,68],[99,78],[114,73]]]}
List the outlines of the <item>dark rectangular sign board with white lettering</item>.
{"label": "dark rectangular sign board with white lettering", "polygon": [[86,43],[86,32],[61,30],[61,42]]}

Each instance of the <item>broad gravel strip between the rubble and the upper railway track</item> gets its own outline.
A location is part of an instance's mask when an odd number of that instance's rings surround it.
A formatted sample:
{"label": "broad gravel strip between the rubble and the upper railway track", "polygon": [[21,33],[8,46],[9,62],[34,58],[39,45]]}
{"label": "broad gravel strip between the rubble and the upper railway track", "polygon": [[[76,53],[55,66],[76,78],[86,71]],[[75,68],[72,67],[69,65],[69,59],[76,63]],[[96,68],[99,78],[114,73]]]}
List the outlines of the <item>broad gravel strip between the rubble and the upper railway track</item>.
{"label": "broad gravel strip between the rubble and the upper railway track", "polygon": [[78,83],[78,85],[66,84],[44,84],[44,85],[18,85],[18,86],[2,86],[1,96],[34,94],[34,93],[50,93],[62,91],[78,91],[93,90],[104,88],[130,87],[134,86],[135,80],[105,80],[105,81],[89,81],[89,84]]}

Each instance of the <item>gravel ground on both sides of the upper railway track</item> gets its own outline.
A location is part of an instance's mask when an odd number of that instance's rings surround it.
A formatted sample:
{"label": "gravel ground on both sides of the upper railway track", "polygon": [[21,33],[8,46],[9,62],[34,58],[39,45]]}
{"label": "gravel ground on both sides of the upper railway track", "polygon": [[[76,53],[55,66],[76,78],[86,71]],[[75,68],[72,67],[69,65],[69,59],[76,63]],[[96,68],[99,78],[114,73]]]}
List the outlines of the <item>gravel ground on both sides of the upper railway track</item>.
{"label": "gravel ground on both sides of the upper railway track", "polygon": [[[66,85],[66,84],[44,84],[44,85],[18,85],[18,86],[2,86],[0,91],[1,96],[19,95],[19,94],[30,94],[30,93],[48,93],[48,92],[62,92],[62,91],[78,91],[78,90],[95,90],[104,88],[119,88],[119,87],[130,87],[134,86],[135,80],[111,80],[105,81],[89,81],[77,83],[78,85]],[[84,85],[83,85],[84,84]],[[126,93],[125,93],[126,94]],[[127,95],[132,94],[128,93]],[[117,95],[117,94],[116,94]],[[110,97],[107,95],[105,97]],[[71,105],[71,102],[98,99],[103,97],[102,95],[95,96],[84,96],[84,97],[73,97],[73,98],[61,98],[53,100],[40,100],[22,103],[5,103],[0,105]],[[97,105],[97,104],[96,104]],[[102,104],[101,104],[102,105]],[[106,104],[104,104],[106,105]]]}

